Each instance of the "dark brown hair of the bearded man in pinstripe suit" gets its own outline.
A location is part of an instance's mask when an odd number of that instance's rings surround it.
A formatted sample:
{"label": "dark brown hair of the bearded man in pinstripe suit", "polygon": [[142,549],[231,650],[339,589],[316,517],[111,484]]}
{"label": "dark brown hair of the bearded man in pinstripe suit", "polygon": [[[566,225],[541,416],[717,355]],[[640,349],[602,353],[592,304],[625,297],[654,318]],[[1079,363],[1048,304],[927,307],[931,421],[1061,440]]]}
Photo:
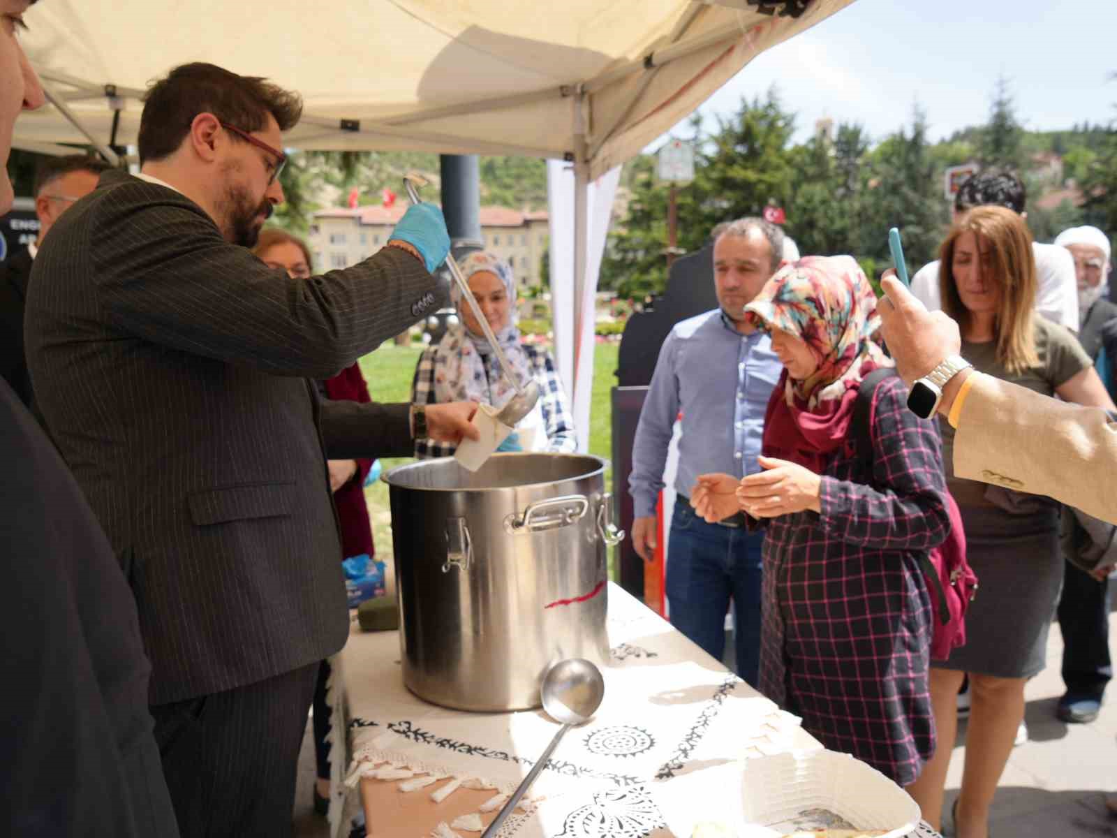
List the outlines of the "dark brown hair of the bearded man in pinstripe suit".
{"label": "dark brown hair of the bearded man in pinstripe suit", "polygon": [[270,113],[279,130],[287,131],[303,115],[303,98],[258,76],[238,76],[201,61],[183,64],[147,88],[140,117],[140,163],[176,152],[190,123],[202,113],[249,134],[262,128]]}

